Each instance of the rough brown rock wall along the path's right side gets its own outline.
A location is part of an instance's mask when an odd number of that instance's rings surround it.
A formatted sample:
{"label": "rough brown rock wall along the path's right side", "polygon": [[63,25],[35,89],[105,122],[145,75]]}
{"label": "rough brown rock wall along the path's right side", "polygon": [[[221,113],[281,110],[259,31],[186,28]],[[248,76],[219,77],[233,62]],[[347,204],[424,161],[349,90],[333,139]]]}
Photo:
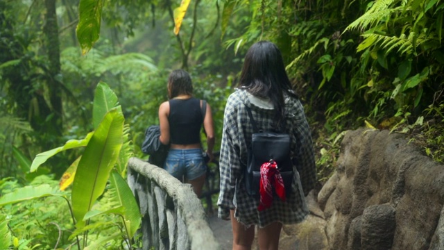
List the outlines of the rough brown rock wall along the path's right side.
{"label": "rough brown rock wall along the path's right side", "polygon": [[307,201],[309,219],[284,226],[282,249],[444,249],[444,165],[403,135],[348,131],[336,172]]}

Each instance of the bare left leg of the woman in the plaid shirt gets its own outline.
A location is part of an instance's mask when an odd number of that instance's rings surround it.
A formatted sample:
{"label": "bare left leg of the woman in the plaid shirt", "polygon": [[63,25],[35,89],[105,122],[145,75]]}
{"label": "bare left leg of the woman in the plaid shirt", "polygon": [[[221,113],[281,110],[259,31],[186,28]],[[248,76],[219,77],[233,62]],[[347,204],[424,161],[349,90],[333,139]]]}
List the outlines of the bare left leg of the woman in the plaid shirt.
{"label": "bare left leg of the woman in the plaid shirt", "polygon": [[255,226],[245,226],[234,218],[234,210],[230,211],[233,229],[233,250],[250,250],[255,239]]}

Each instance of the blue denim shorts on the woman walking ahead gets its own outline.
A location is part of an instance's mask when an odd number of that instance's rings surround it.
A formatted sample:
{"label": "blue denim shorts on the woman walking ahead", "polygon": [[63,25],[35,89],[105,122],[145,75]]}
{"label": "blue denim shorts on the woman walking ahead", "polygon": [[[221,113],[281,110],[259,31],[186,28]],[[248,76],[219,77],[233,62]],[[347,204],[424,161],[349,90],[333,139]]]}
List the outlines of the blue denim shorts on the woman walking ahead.
{"label": "blue denim shorts on the woman walking ahead", "polygon": [[182,181],[182,176],[192,181],[207,172],[202,149],[169,149],[164,169]]}

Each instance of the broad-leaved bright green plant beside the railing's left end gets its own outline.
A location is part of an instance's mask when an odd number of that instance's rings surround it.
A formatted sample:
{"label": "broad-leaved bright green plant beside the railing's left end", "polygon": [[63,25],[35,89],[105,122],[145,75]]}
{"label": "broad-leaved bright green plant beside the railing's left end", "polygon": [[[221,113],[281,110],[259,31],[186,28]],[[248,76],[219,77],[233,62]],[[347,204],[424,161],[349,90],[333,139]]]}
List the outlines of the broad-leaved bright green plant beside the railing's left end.
{"label": "broad-leaved bright green plant beside the railing's left end", "polygon": [[[39,153],[31,164],[30,171],[35,172],[56,153],[84,147],[83,153],[78,156],[79,160],[74,161],[60,181],[63,190],[72,183],[70,193],[55,190],[49,184],[27,185],[4,194],[0,198],[0,207],[42,197],[61,197],[67,201],[67,208],[73,220],[72,226],[76,229],[69,238],[76,239],[78,249],[96,249],[96,246],[104,245],[121,246],[122,242],[131,249],[132,244],[135,243],[133,236],[139,228],[141,215],[133,192],[122,177],[131,156],[128,126],[124,125],[123,113],[117,96],[105,83],[99,83],[96,88],[93,124],[94,131],[88,133],[85,139],[69,140],[62,147]],[[71,176],[74,177],[71,178]],[[110,186],[106,188],[108,181]],[[108,199],[105,199],[108,203],[105,203],[105,206],[96,205],[105,189],[108,189],[110,193]],[[17,214],[12,207],[6,210],[9,211],[7,212],[9,216]],[[101,215],[118,215],[115,218],[117,221],[121,218],[120,226],[116,222],[113,223],[117,228],[112,235],[101,235],[104,229],[103,222],[92,220]],[[110,223],[107,224],[110,225]],[[89,234],[93,234],[94,237]],[[124,240],[121,240],[122,238]],[[34,242],[35,240],[35,238],[29,239],[26,245],[41,244],[37,244],[38,241]],[[63,243],[70,244],[69,241]]]}

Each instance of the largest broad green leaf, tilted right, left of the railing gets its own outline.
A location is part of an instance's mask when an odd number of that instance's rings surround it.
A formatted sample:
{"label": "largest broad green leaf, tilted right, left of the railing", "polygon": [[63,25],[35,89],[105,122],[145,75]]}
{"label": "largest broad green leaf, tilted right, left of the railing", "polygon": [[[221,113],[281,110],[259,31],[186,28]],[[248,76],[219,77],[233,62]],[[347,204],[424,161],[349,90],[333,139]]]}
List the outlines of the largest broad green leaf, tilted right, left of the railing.
{"label": "largest broad green leaf, tilted right, left of the railing", "polygon": [[123,115],[112,109],[108,112],[87,144],[78,163],[72,187],[72,207],[78,226],[83,217],[103,193],[110,171],[117,162],[122,147]]}

